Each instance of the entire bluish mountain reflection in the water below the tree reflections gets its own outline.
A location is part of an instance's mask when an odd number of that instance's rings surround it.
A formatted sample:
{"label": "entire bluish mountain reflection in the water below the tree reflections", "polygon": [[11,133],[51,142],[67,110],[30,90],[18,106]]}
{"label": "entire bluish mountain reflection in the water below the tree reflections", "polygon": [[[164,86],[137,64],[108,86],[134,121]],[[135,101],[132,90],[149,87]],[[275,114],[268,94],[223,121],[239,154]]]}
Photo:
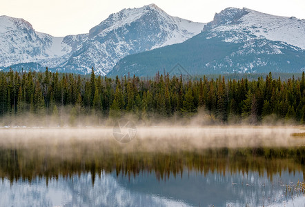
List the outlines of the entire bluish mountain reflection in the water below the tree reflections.
{"label": "entire bluish mountain reflection in the water below the tree reflections", "polygon": [[[301,173],[282,172],[270,181],[258,172],[209,172],[206,176],[190,171],[182,177],[170,175],[157,181],[155,175],[144,172],[137,177],[116,177],[101,173],[92,186],[90,173],[80,176],[17,181],[10,185],[4,179],[0,187],[0,206],[262,206],[286,200],[282,184],[302,179]],[[294,200],[304,205],[304,198]]]}

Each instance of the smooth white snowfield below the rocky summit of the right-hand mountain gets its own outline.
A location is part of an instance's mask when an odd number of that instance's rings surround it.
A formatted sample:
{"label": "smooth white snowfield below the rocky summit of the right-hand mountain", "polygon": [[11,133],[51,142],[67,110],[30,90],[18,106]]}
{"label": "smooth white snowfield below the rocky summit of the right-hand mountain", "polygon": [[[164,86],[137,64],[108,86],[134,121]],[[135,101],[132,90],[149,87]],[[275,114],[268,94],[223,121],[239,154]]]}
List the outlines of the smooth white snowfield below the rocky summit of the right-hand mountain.
{"label": "smooth white snowfield below the rocky summit of the right-hand mountain", "polygon": [[[279,17],[264,14],[255,10],[244,8],[247,14],[236,23],[226,23],[215,26],[213,32],[237,32],[250,37],[266,38],[271,41],[283,41],[305,50],[305,20],[297,18]],[[225,41],[235,41],[228,38]]]}

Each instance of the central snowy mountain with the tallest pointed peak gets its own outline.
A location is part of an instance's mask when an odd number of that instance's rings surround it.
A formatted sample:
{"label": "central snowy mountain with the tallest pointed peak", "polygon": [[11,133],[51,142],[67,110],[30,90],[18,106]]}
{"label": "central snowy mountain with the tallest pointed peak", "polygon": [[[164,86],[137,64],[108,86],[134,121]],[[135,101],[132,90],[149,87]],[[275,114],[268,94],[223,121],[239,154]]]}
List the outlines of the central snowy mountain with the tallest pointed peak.
{"label": "central snowy mountain with the tallest pointed peak", "polygon": [[89,32],[89,39],[63,63],[63,70],[88,73],[94,66],[106,75],[127,55],[181,43],[198,34],[204,23],[171,17],[150,4],[110,14]]}

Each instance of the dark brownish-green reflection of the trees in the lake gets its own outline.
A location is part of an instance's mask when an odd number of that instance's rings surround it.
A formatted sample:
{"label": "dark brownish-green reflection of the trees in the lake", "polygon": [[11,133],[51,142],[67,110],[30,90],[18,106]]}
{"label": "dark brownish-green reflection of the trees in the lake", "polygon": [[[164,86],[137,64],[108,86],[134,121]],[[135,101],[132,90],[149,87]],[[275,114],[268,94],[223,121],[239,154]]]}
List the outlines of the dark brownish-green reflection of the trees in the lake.
{"label": "dark brownish-green reflection of the trees in the lake", "polygon": [[[74,149],[74,150],[73,150]],[[249,171],[267,173],[269,179],[282,170],[303,172],[305,147],[297,148],[239,148],[206,150],[171,150],[170,152],[124,152],[120,148],[101,146],[90,149],[86,145],[38,148],[0,148],[0,177],[11,182],[19,178],[31,181],[35,177],[48,179],[70,177],[91,172],[92,184],[101,171],[115,172],[126,177],[141,172],[154,172],[157,179],[170,174],[181,176],[187,170],[206,175],[208,172],[226,173]]]}

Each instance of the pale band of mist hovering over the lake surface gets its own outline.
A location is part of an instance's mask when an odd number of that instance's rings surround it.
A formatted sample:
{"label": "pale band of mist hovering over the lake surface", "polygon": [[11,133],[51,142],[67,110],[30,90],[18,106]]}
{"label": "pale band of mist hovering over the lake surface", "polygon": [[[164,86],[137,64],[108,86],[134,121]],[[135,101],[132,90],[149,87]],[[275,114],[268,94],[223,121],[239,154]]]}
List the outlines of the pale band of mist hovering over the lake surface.
{"label": "pale band of mist hovering over the lake surface", "polygon": [[2,128],[1,147],[86,144],[95,150],[96,143],[120,148],[125,152],[200,150],[204,148],[256,148],[303,146],[305,139],[292,137],[304,132],[301,127],[265,126],[172,126],[137,127],[137,135],[128,144],[115,141],[112,128]]}

